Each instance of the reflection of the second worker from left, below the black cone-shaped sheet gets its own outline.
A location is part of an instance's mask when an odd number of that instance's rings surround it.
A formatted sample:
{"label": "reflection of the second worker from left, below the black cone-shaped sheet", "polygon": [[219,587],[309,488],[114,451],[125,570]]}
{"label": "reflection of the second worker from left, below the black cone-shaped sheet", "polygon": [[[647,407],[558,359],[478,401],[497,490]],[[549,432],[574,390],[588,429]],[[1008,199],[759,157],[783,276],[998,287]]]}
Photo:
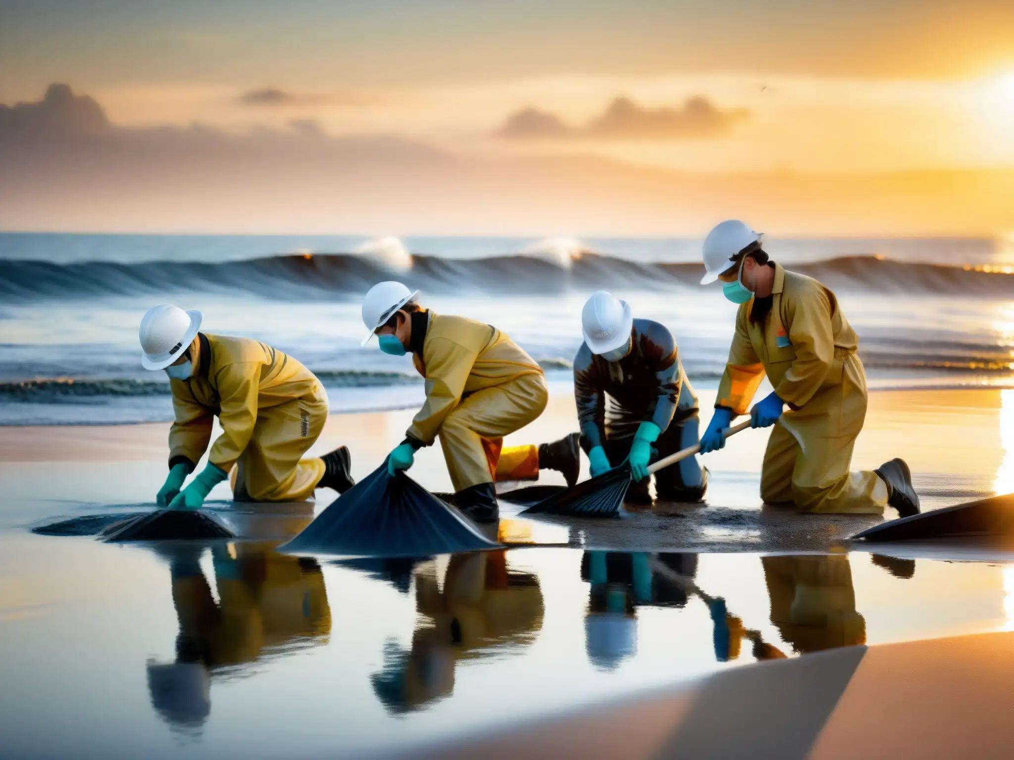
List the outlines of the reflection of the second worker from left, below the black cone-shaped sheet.
{"label": "reflection of the second worker from left, below the black cone-shaped sheet", "polygon": [[454,689],[461,660],[500,657],[531,643],[542,627],[538,579],[511,567],[505,551],[455,554],[447,563],[443,589],[437,565],[416,572],[420,618],[406,652],[384,645],[384,665],[370,677],[389,712],[424,708]]}

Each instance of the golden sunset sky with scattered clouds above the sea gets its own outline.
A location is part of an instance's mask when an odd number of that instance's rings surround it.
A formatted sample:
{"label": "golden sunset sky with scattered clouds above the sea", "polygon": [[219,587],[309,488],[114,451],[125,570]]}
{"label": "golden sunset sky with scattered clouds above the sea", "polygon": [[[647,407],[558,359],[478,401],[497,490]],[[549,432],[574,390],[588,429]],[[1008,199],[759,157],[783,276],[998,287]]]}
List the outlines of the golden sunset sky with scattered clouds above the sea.
{"label": "golden sunset sky with scattered clouds above the sea", "polygon": [[[108,148],[105,165],[71,151],[54,188],[58,174],[18,179],[25,151],[52,146],[24,137],[39,132],[27,110],[0,110],[7,229],[682,234],[737,211],[788,234],[1014,229],[1014,204],[995,198],[1014,188],[1010,0],[0,0],[0,102],[39,101],[54,82],[93,98],[117,140],[151,147]],[[319,150],[334,170],[353,161],[368,192],[265,218],[249,177],[236,193],[220,181],[216,217],[186,198],[166,208],[161,181],[158,204],[123,205],[154,188],[115,167],[151,168],[159,135],[194,155],[198,132],[231,141],[246,167],[267,160],[266,131],[293,142],[271,166],[303,156],[301,185],[330,186],[305,160]],[[618,173],[636,204],[607,203]],[[188,181],[207,176],[169,184],[186,196]],[[570,183],[554,217],[546,187]]]}

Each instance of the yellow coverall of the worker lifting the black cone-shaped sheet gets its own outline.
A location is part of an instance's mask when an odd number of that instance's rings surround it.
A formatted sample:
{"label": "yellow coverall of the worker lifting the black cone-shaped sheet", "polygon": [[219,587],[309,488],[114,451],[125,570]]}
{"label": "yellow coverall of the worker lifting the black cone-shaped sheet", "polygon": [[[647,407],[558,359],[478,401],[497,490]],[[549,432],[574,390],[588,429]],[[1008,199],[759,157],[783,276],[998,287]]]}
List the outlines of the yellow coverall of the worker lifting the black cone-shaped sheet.
{"label": "yellow coverall of the worker lifting the black cone-shaped sheet", "polygon": [[542,369],[496,327],[465,317],[426,314],[422,353],[412,356],[426,378],[426,403],[408,437],[429,446],[439,436],[455,491],[497,479],[529,479],[532,473],[537,477],[536,447],[502,446],[504,436],[546,408],[549,391]]}

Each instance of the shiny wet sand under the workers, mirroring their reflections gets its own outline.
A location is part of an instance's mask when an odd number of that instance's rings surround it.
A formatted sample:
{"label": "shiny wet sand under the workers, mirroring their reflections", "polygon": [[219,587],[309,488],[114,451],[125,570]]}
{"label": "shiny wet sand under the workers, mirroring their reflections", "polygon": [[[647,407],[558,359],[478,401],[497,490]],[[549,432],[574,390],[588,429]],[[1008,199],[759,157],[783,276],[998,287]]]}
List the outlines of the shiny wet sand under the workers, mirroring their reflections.
{"label": "shiny wet sand under the workers, mirroring their reflections", "polygon": [[[558,438],[573,415],[555,396],[510,442]],[[334,415],[314,451],[348,444],[362,476],[411,416]],[[1014,626],[1009,556],[819,553],[870,519],[760,509],[767,436],[752,431],[705,459],[706,506],[502,521],[506,540],[556,547],[283,555],[277,543],[332,495],[234,505],[224,485],[209,506],[241,540],[112,545],[28,531],[150,509],[166,430],[0,429],[0,672],[16,684],[0,689],[0,756],[404,754],[760,660]],[[1011,489],[1008,448],[1009,391],[875,393],[856,464],[900,454],[925,505],[943,506]],[[449,485],[438,447],[412,474]],[[626,550],[589,550],[602,548]]]}

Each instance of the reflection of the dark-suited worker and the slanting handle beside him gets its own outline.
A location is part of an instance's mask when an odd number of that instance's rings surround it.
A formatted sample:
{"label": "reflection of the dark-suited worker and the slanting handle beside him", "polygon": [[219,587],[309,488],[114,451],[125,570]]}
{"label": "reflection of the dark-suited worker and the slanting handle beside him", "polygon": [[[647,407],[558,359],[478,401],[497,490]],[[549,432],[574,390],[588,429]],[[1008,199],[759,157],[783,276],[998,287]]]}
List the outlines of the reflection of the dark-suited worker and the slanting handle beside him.
{"label": "reflection of the dark-suited worker and the slanting handle beside him", "polygon": [[637,653],[637,607],[684,607],[692,596],[708,606],[716,660],[738,659],[744,639],[757,660],[784,658],[729,612],[724,599],[697,585],[697,565],[690,553],[586,551],[581,580],[589,583],[585,647],[592,665],[613,670]]}

